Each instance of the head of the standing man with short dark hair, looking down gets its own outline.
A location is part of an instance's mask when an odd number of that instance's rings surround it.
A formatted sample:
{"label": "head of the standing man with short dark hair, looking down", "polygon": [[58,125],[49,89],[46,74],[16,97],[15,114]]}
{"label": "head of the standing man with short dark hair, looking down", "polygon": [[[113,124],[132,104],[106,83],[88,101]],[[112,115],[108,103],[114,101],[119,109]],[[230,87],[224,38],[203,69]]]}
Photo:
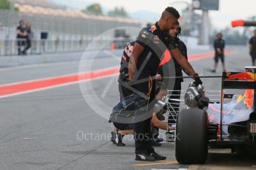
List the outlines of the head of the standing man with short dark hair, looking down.
{"label": "head of the standing man with short dark hair, looking down", "polygon": [[174,7],[167,7],[160,18],[160,27],[165,31],[171,30],[180,18],[180,13]]}

